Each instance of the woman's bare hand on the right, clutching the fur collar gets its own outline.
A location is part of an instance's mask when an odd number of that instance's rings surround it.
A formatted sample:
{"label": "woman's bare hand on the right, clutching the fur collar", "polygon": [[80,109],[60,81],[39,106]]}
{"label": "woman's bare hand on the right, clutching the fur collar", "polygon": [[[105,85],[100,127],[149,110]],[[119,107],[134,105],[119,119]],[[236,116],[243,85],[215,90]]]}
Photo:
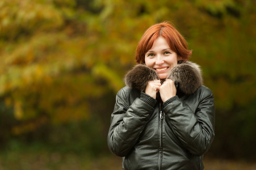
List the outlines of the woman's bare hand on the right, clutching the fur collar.
{"label": "woman's bare hand on the right, clutching the fur collar", "polygon": [[166,79],[160,87],[160,96],[163,102],[175,96],[177,93],[177,89],[173,80]]}

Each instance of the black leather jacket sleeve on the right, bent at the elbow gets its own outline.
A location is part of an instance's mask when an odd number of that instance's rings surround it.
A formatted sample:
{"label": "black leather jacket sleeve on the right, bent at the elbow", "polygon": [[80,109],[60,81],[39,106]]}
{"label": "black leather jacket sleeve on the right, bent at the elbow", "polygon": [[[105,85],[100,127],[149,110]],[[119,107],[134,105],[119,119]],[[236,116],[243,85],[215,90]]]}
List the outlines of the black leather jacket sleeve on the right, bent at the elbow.
{"label": "black leather jacket sleeve on the right, bent at the elbow", "polygon": [[178,96],[165,105],[163,112],[182,145],[194,155],[203,155],[215,136],[215,104],[209,88],[204,88],[195,113]]}

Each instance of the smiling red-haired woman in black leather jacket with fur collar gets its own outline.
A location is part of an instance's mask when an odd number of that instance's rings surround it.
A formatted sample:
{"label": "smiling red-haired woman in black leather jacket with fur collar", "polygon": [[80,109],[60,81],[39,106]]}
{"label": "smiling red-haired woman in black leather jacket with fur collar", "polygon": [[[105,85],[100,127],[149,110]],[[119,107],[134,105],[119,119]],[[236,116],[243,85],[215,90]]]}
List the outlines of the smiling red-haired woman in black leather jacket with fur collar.
{"label": "smiling red-haired woman in black leather jacket with fur collar", "polygon": [[108,132],[108,147],[123,157],[123,169],[204,169],[215,104],[190,55],[186,40],[167,22],[141,37],[138,65],[116,95]]}

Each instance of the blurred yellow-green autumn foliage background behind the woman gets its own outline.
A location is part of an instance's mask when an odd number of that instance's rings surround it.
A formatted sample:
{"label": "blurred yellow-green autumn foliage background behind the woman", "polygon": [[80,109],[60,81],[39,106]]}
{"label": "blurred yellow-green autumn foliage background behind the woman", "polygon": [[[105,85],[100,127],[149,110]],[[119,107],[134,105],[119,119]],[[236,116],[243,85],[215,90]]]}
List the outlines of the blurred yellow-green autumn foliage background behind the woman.
{"label": "blurred yellow-green autumn foliage background behind the woman", "polygon": [[165,20],[188,41],[215,95],[216,137],[206,156],[255,160],[255,0],[2,0],[0,168],[21,161],[19,168],[36,169],[22,155],[37,169],[65,169],[59,160],[85,169],[110,154],[116,92],[144,31]]}

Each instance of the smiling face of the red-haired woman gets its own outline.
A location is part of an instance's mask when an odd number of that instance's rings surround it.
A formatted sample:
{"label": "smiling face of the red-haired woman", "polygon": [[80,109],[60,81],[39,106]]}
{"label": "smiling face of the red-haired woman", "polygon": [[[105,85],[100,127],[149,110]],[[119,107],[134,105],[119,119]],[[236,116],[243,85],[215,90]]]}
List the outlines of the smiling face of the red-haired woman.
{"label": "smiling face of the red-haired woman", "polygon": [[177,53],[170,49],[165,38],[158,37],[151,49],[145,54],[146,66],[156,70],[160,79],[166,79],[167,75],[172,67],[177,65],[178,59]]}

